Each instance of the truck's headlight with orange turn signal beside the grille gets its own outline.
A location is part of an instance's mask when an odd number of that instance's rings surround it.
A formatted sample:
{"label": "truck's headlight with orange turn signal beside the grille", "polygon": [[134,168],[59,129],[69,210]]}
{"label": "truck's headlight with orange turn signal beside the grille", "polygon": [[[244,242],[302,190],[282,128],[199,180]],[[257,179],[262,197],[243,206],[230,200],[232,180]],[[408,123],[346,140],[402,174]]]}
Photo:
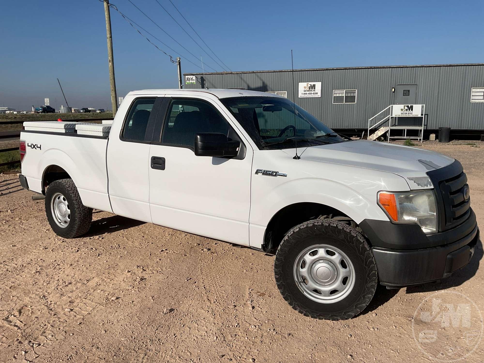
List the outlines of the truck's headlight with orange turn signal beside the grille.
{"label": "truck's headlight with orange turn signal beside the grille", "polygon": [[431,190],[378,192],[378,205],[395,223],[417,223],[424,233],[437,232],[437,208]]}

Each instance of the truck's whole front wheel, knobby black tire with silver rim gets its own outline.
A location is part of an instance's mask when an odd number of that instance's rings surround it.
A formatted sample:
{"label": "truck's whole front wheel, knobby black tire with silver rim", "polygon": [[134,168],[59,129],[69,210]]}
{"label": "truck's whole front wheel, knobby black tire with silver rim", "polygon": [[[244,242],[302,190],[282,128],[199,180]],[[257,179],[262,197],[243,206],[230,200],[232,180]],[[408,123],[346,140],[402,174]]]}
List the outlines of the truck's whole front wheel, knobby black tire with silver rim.
{"label": "truck's whole front wheel, knobby black tire with silver rim", "polygon": [[363,235],[331,219],[289,230],[277,249],[274,275],[293,309],[329,320],[358,315],[378,283],[375,259]]}

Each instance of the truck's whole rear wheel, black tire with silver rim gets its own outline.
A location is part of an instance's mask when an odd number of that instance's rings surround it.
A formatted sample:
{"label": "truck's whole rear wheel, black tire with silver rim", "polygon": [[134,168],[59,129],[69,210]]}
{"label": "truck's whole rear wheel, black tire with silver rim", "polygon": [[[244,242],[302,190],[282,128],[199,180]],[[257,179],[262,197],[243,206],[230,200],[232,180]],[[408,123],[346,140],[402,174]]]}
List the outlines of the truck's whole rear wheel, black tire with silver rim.
{"label": "truck's whole rear wheel, black tire with silver rim", "polygon": [[45,193],[45,214],[52,230],[64,238],[76,238],[91,227],[92,208],[82,204],[72,179],[49,184]]}

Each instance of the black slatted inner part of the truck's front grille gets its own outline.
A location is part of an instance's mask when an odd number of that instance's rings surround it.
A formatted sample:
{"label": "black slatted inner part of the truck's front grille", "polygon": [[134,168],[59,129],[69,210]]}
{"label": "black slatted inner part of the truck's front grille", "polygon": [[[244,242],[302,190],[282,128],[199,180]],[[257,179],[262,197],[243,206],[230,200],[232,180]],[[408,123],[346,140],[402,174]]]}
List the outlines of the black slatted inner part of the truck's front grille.
{"label": "black slatted inner part of the truck's front grille", "polygon": [[446,230],[460,225],[464,222],[470,213],[470,198],[465,199],[466,188],[468,192],[467,176],[464,172],[439,181],[441,202],[443,207],[444,218],[441,230]]}

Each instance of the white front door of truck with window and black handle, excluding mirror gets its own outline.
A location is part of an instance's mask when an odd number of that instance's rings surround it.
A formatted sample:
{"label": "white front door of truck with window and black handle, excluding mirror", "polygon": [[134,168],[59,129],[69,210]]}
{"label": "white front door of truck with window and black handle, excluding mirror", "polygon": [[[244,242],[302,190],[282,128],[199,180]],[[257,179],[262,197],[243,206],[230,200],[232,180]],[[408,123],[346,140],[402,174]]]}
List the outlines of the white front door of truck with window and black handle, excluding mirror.
{"label": "white front door of truck with window and black handle, excluding mirror", "polygon": [[[161,226],[248,245],[253,151],[223,114],[222,107],[208,99],[171,99],[161,140],[150,147],[151,219]],[[240,139],[244,152],[233,158],[196,156],[195,134],[203,132]]]}

